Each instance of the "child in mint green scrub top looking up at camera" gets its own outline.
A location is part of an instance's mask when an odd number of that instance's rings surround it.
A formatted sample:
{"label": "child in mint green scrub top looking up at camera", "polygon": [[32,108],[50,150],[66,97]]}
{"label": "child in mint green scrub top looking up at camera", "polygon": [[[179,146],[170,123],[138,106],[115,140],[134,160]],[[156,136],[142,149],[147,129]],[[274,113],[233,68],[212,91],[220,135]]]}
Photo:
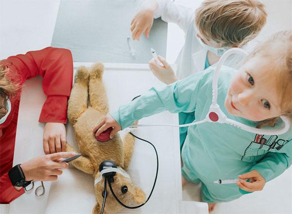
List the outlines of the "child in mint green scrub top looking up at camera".
{"label": "child in mint green scrub top looking up at camera", "polygon": [[[267,54],[273,50],[273,54]],[[221,68],[218,104],[227,117],[248,126],[279,128],[280,115],[292,114],[292,31],[274,34],[259,45],[237,71]],[[138,99],[107,115],[94,129],[116,132],[134,121],[163,111],[195,112],[205,118],[212,102],[214,67],[166,87],[150,88]],[[260,135],[229,124],[190,126],[182,149],[183,178],[201,181],[202,200],[212,211],[218,202],[231,201],[246,192],[262,190],[267,181],[282,174],[292,163],[292,128],[281,135]],[[238,176],[239,175],[239,176]],[[218,179],[241,179],[218,185]],[[246,181],[248,180],[248,181]],[[239,187],[239,188],[238,188]]]}

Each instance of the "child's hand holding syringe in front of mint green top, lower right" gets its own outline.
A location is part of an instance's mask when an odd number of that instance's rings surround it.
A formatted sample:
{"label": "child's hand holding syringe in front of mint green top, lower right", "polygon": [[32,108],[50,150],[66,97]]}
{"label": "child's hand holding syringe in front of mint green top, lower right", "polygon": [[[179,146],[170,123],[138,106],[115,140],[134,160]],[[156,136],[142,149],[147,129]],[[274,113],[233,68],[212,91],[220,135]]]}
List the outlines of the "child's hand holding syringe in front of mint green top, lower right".
{"label": "child's hand holding syringe in front of mint green top, lower right", "polygon": [[[237,186],[239,186],[240,189],[245,190],[247,192],[260,191],[264,188],[266,184],[265,179],[256,170],[252,170],[248,173],[239,175],[238,178],[243,180],[237,182],[236,183]],[[247,179],[249,179],[249,182],[245,181]]]}

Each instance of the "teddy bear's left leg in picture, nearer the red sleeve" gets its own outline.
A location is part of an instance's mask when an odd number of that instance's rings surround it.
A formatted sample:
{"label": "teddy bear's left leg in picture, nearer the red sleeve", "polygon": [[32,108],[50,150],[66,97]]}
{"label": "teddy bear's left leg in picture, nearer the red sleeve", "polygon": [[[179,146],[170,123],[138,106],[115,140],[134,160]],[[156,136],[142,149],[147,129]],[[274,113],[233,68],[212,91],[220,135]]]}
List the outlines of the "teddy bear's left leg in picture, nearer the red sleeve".
{"label": "teddy bear's left leg in picture, nearer the red sleeve", "polygon": [[87,109],[89,72],[87,67],[77,69],[75,83],[68,101],[68,118],[74,125],[78,117]]}

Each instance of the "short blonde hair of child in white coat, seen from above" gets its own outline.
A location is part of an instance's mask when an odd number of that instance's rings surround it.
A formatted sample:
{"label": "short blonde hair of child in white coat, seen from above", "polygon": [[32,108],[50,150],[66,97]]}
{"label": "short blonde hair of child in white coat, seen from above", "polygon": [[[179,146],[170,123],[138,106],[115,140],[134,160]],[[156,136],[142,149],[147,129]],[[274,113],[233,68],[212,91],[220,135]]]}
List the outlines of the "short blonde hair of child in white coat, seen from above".
{"label": "short blonde hair of child in white coat, seen from above", "polygon": [[256,37],[266,18],[265,5],[258,0],[204,0],[196,10],[195,23],[205,38],[231,47]]}

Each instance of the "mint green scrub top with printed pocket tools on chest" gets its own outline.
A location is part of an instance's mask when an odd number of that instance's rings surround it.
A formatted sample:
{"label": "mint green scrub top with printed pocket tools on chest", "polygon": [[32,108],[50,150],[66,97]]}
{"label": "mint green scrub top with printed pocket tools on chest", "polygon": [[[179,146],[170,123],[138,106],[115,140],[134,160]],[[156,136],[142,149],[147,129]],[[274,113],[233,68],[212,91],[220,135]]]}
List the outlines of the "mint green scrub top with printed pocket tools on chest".
{"label": "mint green scrub top with printed pocket tools on chest", "polygon": [[[152,87],[110,115],[122,129],[136,120],[163,111],[195,112],[196,121],[200,121],[206,117],[212,103],[214,69],[210,66],[163,88]],[[218,80],[218,104],[227,117],[256,127],[256,122],[230,115],[224,107],[229,81],[234,72],[222,66]],[[281,125],[279,122],[275,128]],[[230,201],[242,196],[238,186],[219,185],[214,181],[234,179],[253,169],[266,181],[279,176],[292,163],[292,129],[281,135],[260,135],[229,124],[205,122],[188,128],[181,155],[182,174],[188,181],[201,181],[204,201]]]}

